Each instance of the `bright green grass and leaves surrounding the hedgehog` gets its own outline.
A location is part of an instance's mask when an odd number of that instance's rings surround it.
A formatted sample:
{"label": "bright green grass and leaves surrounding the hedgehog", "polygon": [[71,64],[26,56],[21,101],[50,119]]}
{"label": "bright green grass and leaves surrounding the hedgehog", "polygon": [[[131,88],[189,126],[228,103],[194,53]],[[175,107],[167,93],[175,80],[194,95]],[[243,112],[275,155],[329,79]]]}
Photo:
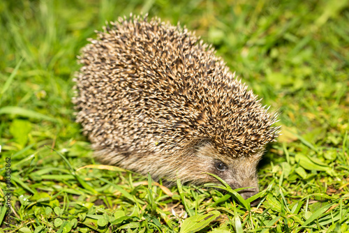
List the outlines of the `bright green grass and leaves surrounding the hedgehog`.
{"label": "bright green grass and leaves surrounding the hedgehog", "polygon": [[[348,6],[1,1],[0,200],[13,220],[2,204],[0,232],[349,232]],[[283,135],[260,163],[257,207],[229,187],[168,189],[91,157],[70,102],[75,57],[106,20],[148,11],[197,31],[279,110]]]}

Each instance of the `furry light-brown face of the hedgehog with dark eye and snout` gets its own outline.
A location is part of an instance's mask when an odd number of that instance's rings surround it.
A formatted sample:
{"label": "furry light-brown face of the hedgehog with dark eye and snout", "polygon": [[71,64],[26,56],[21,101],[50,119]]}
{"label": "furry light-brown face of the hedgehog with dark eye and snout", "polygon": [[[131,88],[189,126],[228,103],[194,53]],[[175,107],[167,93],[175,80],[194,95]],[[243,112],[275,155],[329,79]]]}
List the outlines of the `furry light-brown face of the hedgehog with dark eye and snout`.
{"label": "furry light-brown face of the hedgehog with dark eye and snout", "polygon": [[[216,149],[214,149],[214,146],[207,142],[205,144],[200,144],[196,149],[196,156],[199,161],[197,160],[195,163],[197,167],[200,167],[199,170],[216,174],[227,182],[232,189],[253,187],[246,188],[239,192],[244,199],[258,193],[259,189],[256,167],[262,157],[262,151],[248,157],[242,156],[230,158],[223,162],[220,158],[225,158],[225,156],[220,155]],[[207,179],[206,182],[220,183],[213,176],[207,175],[205,176],[205,179]]]}

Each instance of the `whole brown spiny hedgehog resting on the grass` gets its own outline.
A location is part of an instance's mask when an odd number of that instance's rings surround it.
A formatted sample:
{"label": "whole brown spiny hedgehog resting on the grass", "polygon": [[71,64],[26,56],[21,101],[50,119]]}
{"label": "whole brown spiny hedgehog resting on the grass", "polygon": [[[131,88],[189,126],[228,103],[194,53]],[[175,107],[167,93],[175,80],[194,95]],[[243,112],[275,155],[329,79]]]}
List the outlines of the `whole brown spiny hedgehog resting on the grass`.
{"label": "whole brown spiny hedgehog resting on the grass", "polygon": [[256,167],[278,136],[269,114],[187,29],[153,18],[110,23],[82,49],[75,78],[77,122],[96,155],[154,179],[219,183],[245,199]]}

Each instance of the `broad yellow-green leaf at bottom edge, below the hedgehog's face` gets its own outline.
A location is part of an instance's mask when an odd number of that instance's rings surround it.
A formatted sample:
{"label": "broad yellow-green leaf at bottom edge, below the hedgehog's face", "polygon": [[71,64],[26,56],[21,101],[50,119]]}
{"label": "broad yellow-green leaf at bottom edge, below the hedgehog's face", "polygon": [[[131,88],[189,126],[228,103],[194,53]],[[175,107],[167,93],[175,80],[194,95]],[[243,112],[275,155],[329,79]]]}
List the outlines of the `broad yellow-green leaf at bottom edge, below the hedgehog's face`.
{"label": "broad yellow-green leaf at bottom edge, below the hedgehog's face", "polygon": [[218,218],[220,214],[221,213],[219,211],[211,211],[204,215],[196,215],[186,218],[181,225],[180,233],[198,232],[209,225],[211,221]]}

